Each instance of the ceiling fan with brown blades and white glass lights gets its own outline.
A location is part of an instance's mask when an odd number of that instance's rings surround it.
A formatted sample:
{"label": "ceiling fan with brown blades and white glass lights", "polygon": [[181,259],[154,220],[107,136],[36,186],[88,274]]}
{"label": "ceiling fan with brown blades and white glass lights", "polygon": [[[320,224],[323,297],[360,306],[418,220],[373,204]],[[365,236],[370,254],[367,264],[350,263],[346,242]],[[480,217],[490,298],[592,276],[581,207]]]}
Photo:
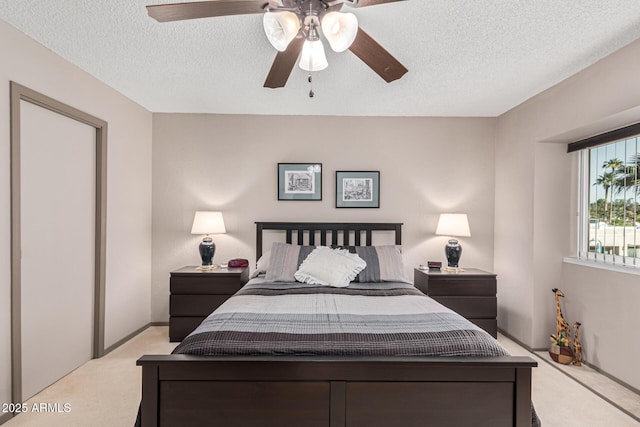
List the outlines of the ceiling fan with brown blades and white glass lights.
{"label": "ceiling fan with brown blades and white glass lights", "polygon": [[349,49],[387,82],[401,78],[407,68],[358,26],[355,15],[340,12],[345,4],[358,8],[396,1],[403,0],[210,0],[151,5],[147,12],[158,22],[263,14],[267,38],[278,50],[264,87],[279,88],[298,57],[300,68],[309,72],[327,67],[320,34],[334,51]]}

